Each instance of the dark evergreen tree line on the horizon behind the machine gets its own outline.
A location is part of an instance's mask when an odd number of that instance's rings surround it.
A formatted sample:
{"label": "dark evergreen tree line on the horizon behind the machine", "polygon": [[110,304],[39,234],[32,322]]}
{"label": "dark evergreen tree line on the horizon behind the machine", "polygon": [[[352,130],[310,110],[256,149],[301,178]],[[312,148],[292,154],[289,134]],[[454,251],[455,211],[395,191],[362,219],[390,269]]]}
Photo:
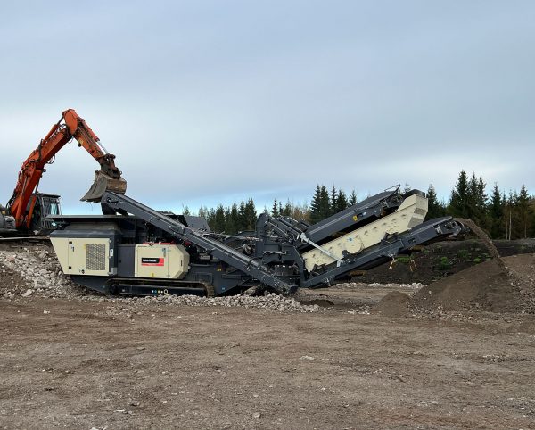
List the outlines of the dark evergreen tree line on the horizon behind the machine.
{"label": "dark evergreen tree line on the horizon behind the machine", "polygon": [[[448,202],[440,201],[434,186],[427,189],[428,212],[426,219],[453,216],[473,219],[493,239],[520,239],[535,236],[535,198],[523,185],[520,191],[506,193],[494,184],[490,195],[486,193],[487,184],[475,173],[469,176],[461,170],[453,186]],[[405,185],[405,190],[410,186]],[[263,208],[273,216],[289,216],[293,219],[317,223],[334,213],[343,211],[358,203],[355,190],[347,194],[335,186],[328,189],[317,185],[310,204],[293,203],[275,199],[270,208]],[[185,213],[189,213],[185,208]],[[254,230],[257,208],[250,197],[230,206],[218,204],[216,208],[201,207],[199,216],[207,219],[210,228],[219,233],[235,235],[240,231]]]}

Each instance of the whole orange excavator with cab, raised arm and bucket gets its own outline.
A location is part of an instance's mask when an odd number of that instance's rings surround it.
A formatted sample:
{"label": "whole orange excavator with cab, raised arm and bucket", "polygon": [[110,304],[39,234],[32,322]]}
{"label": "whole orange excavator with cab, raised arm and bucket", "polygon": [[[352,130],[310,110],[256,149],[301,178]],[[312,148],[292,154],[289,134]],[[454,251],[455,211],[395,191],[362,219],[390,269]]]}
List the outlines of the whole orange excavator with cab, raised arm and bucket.
{"label": "whole orange excavator with cab, raised arm and bucket", "polygon": [[0,235],[13,229],[22,234],[44,234],[53,229],[53,225],[49,225],[52,221],[47,221],[46,216],[59,214],[59,196],[37,193],[37,186],[45,165],[73,138],[100,164],[100,170],[95,171],[94,184],[81,200],[100,202],[105,191],[126,192],[127,181],[115,166],[115,155],[107,153],[100,139],[74,109],[68,109],[22,163],[12,198],[5,208],[0,207]]}

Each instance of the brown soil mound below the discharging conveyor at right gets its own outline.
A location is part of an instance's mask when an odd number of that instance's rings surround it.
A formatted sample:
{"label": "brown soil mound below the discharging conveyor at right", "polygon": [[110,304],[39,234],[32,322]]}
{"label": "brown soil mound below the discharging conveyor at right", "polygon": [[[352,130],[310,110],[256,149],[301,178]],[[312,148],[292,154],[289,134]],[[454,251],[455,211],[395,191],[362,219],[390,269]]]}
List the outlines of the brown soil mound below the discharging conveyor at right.
{"label": "brown soil mound below the discharging conveyor at right", "polygon": [[426,310],[441,307],[532,313],[534,275],[533,254],[489,260],[424,286],[412,302]]}

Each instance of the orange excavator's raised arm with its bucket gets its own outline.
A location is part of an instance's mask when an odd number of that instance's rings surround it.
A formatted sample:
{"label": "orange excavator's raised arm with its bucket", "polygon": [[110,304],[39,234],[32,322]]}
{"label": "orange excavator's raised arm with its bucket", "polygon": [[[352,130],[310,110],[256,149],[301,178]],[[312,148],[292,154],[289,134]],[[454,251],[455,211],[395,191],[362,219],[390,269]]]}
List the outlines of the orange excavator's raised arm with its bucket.
{"label": "orange excavator's raised arm with its bucket", "polygon": [[100,139],[74,109],[68,109],[62,113],[62,118],[53,125],[22,164],[17,185],[7,203],[7,209],[14,217],[17,227],[29,228],[35,205],[32,194],[45,172],[45,165],[52,161],[55,154],[72,138],[76,139],[78,146],[83,146],[100,164],[100,170],[95,171],[94,184],[81,200],[100,202],[105,191],[115,191],[120,194],[126,192],[127,182],[121,178],[121,172],[115,166],[115,155],[105,151],[103,145],[99,143]]}

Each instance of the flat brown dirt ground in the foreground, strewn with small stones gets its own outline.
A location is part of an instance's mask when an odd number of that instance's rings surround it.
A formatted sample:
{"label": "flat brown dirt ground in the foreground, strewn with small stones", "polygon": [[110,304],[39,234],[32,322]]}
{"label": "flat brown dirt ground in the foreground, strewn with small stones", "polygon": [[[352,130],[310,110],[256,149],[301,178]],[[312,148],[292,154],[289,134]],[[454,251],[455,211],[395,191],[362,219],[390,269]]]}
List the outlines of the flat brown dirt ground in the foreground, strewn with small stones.
{"label": "flat brown dirt ground in the foreground, strewn with small stones", "polygon": [[535,318],[0,299],[0,428],[534,428]]}

